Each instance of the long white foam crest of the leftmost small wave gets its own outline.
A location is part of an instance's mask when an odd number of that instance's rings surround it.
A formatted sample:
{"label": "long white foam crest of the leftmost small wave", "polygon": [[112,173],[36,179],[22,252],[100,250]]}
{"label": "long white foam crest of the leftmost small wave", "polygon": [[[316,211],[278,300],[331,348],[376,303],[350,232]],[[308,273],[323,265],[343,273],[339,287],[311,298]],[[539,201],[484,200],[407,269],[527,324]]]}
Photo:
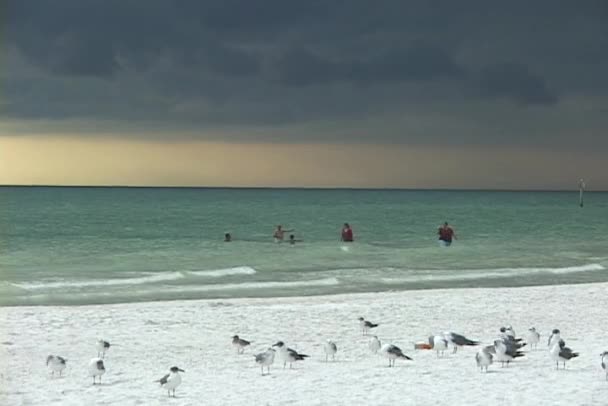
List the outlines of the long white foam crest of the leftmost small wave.
{"label": "long white foam crest of the leftmost small wave", "polygon": [[174,281],[184,277],[181,272],[163,272],[148,274],[138,278],[116,278],[116,279],[96,279],[87,281],[58,281],[58,282],[22,282],[12,283],[21,289],[40,290],[40,289],[57,289],[57,288],[86,288],[95,286],[113,286],[113,285],[143,285],[147,283]]}

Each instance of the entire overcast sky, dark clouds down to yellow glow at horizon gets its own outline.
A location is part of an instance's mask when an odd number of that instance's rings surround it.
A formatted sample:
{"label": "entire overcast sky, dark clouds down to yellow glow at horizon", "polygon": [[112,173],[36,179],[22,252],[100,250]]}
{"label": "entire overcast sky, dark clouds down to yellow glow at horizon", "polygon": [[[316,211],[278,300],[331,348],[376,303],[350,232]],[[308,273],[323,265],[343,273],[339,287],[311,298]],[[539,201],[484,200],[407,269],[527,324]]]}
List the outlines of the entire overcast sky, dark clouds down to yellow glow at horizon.
{"label": "entire overcast sky, dark clouds down to yellow glow at horizon", "polygon": [[[8,0],[0,11],[0,183],[553,188],[584,176],[608,189],[604,0]],[[51,169],[59,152],[30,162],[49,140],[67,156],[126,142],[132,155],[116,159],[132,177],[80,163],[76,181]],[[240,157],[230,177],[197,170],[196,154],[181,172],[168,155],[172,177],[147,171],[154,146],[211,144],[225,147],[216,166]],[[301,152],[328,144],[374,154],[369,173],[356,163],[327,183],[335,161]],[[276,148],[299,161],[239,178],[239,164],[255,172]],[[412,173],[413,151],[436,177]],[[518,162],[531,151],[537,166]],[[489,177],[455,175],[450,160],[465,155]],[[294,177],[290,162],[321,175]]]}

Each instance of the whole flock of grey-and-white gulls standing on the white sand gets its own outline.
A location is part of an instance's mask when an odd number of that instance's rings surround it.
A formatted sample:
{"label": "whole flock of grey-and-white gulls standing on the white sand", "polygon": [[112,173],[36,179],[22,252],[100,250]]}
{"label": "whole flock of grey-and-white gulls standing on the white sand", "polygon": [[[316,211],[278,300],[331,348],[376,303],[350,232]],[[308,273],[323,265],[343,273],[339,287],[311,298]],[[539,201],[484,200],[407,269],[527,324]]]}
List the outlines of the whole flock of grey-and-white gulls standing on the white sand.
{"label": "whole flock of grey-and-white gulls standing on the white sand", "polygon": [[[359,317],[359,327],[361,333],[365,336],[369,335],[369,332],[378,327],[379,324],[372,323],[365,320],[363,317]],[[530,328],[527,333],[526,339],[517,337],[513,327],[501,327],[500,334],[494,343],[482,347],[475,354],[475,362],[480,371],[488,371],[488,367],[495,361],[500,362],[503,367],[509,366],[509,363],[516,358],[523,357],[524,352],[521,349],[528,345],[529,348],[537,348],[540,342],[540,333],[536,331],[534,327]],[[238,335],[232,337],[232,345],[236,349],[238,354],[243,354],[245,349],[251,344],[250,341],[242,339]],[[436,351],[437,357],[443,357],[444,352],[452,347],[453,353],[458,351],[458,348],[464,346],[478,346],[481,343],[479,341],[468,339],[467,337],[453,333],[445,332],[442,334],[431,335],[428,337],[428,341],[424,343],[414,344],[415,350],[433,350]],[[553,361],[555,361],[556,369],[559,369],[560,363],[563,364],[563,368],[566,368],[566,362],[579,356],[577,352],[572,351],[569,347],[566,347],[565,341],[561,338],[560,330],[554,329],[549,336],[547,341],[549,348],[549,355]],[[92,358],[88,364],[89,376],[93,378],[93,385],[101,384],[101,376],[105,374],[106,368],[104,365],[104,358],[106,352],[110,349],[110,343],[105,340],[98,340],[96,343],[97,357]],[[323,349],[325,351],[325,361],[328,362],[329,358],[335,361],[336,354],[338,352],[338,346],[332,340],[327,340]],[[373,354],[383,355],[388,359],[388,366],[393,367],[397,359],[412,361],[412,358],[403,353],[403,351],[394,344],[384,344],[378,339],[377,336],[372,336],[368,342],[368,349]],[[297,352],[294,349],[288,348],[283,341],[277,341],[266,351],[255,354],[255,362],[261,367],[262,376],[265,375],[264,368],[266,368],[267,374],[270,374],[270,366],[275,361],[275,356],[283,362],[283,368],[287,367],[291,369],[293,364],[298,361],[304,361],[309,355]],[[604,351],[600,354],[601,367],[606,373],[606,380],[608,381],[608,351]],[[54,376],[58,373],[61,376],[63,370],[66,368],[67,359],[58,355],[49,355],[46,360],[46,365]],[[165,389],[169,396],[173,394],[175,397],[175,389],[182,383],[180,372],[185,372],[183,369],[173,366],[169,369],[169,373],[164,375],[159,380],[155,381],[160,383],[160,386]]]}

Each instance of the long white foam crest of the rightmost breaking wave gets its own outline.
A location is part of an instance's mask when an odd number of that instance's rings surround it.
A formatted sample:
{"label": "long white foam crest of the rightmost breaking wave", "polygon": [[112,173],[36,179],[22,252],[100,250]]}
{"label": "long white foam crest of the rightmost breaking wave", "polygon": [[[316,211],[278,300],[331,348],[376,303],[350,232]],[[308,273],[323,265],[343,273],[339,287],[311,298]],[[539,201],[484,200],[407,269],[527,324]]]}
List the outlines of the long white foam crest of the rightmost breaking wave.
{"label": "long white foam crest of the rightmost breaking wave", "polygon": [[602,271],[606,269],[600,264],[587,264],[579,266],[568,266],[562,268],[496,268],[477,270],[452,270],[452,271],[419,271],[424,274],[416,274],[408,277],[380,278],[382,283],[404,283],[404,282],[429,282],[429,281],[458,281],[484,278],[509,278],[530,274],[568,274],[575,272]]}

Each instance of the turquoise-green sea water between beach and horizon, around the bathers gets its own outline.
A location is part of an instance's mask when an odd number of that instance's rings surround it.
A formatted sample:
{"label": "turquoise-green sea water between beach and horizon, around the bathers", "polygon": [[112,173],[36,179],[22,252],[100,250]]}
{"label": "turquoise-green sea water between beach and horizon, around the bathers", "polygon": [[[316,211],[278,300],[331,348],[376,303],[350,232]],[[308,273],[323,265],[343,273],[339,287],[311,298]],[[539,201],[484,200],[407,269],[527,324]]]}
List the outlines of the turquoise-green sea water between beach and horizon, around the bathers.
{"label": "turquoise-green sea water between beach and horizon, around the bathers", "polygon": [[[274,243],[277,224],[303,241]],[[576,191],[0,187],[4,306],[599,282],[607,268],[608,193],[580,208]]]}

